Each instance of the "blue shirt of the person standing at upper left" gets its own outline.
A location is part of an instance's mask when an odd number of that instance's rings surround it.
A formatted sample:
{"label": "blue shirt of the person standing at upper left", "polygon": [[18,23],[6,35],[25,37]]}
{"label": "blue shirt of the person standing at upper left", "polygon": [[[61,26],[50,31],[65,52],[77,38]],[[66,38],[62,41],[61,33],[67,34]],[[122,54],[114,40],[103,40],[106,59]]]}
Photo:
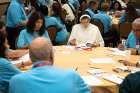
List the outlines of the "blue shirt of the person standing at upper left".
{"label": "blue shirt of the person standing at upper left", "polygon": [[20,0],[12,0],[7,11],[7,26],[15,28],[22,21],[27,20],[27,16]]}

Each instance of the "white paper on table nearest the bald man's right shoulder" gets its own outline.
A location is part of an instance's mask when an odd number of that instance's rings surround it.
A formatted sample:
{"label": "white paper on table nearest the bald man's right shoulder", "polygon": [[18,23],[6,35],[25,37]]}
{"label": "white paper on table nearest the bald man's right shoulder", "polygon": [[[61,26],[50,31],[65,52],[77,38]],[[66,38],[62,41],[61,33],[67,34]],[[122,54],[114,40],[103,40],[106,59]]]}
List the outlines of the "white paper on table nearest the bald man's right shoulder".
{"label": "white paper on table nearest the bald man's right shoulder", "polygon": [[82,76],[82,78],[85,81],[85,83],[88,84],[89,86],[97,86],[97,85],[103,84],[103,82],[100,79],[98,79],[94,76],[91,76],[91,75]]}

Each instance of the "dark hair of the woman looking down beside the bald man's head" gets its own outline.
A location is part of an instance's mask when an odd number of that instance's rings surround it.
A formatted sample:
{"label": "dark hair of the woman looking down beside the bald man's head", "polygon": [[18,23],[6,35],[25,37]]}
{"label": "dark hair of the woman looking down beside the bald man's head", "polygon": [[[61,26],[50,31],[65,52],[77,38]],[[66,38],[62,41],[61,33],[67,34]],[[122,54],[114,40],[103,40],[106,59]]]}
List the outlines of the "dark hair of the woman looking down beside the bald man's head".
{"label": "dark hair of the woman looking down beside the bald man's head", "polygon": [[27,23],[27,32],[29,32],[30,34],[32,34],[34,32],[35,23],[38,19],[43,20],[42,27],[39,30],[39,35],[42,36],[46,30],[45,30],[44,15],[41,12],[34,12],[31,15],[31,17],[29,18],[28,23]]}

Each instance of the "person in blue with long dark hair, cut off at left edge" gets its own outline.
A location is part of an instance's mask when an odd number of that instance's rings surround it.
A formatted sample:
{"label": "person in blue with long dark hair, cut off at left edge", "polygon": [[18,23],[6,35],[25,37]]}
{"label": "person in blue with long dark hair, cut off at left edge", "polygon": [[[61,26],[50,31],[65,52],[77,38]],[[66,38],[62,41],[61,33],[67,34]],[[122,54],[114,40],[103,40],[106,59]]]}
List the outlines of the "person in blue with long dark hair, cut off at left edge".
{"label": "person in blue with long dark hair, cut off at left edge", "polygon": [[[17,69],[14,65],[11,64],[6,58],[6,33],[4,32],[0,22],[0,93],[7,93],[9,80],[15,75],[20,73],[20,70]],[[3,31],[2,31],[3,30]]]}

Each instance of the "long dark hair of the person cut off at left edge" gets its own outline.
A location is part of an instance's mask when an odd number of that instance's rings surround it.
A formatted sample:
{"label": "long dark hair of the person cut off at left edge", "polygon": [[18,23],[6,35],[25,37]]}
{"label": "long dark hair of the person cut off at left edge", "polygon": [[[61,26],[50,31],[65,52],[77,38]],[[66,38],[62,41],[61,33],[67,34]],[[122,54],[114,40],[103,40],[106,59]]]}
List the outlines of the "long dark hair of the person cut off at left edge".
{"label": "long dark hair of the person cut off at left edge", "polygon": [[[0,29],[2,29],[2,27],[5,26],[5,24],[0,21]],[[5,58],[5,51],[6,51],[6,46],[5,46],[5,42],[6,42],[6,33],[0,31],[0,57]]]}

